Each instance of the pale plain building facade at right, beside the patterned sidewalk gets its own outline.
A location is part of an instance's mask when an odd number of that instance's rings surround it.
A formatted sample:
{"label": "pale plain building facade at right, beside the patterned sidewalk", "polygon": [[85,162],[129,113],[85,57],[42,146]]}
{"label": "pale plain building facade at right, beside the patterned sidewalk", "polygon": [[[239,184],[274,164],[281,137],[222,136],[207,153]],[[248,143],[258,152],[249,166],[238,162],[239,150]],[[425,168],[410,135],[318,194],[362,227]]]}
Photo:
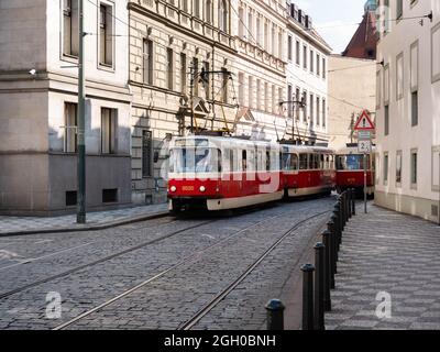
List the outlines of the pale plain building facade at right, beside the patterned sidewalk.
{"label": "pale plain building facade at right, beside the patterned sidewalk", "polygon": [[440,2],[381,1],[380,13],[376,204],[440,222]]}

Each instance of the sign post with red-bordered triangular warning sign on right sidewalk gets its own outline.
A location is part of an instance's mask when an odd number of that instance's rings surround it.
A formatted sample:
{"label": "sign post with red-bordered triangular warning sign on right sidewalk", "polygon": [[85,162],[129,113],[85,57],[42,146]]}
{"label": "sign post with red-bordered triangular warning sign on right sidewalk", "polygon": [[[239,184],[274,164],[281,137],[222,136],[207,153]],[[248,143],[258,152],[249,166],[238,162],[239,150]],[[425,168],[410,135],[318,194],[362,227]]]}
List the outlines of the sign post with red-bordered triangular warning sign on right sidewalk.
{"label": "sign post with red-bordered triangular warning sign on right sidewalk", "polygon": [[366,110],[362,111],[354,130],[358,131],[358,151],[363,154],[364,164],[364,212],[367,213],[367,155],[373,152],[372,132],[374,132],[375,127],[372,122],[370,114]]}

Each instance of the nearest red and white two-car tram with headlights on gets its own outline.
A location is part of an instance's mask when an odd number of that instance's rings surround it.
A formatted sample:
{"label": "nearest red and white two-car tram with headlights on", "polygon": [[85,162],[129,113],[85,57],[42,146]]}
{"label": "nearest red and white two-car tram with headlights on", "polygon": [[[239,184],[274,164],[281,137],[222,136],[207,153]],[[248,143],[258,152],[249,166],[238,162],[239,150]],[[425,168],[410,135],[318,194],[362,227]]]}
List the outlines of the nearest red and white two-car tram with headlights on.
{"label": "nearest red and white two-car tram with headlights on", "polygon": [[334,189],[334,153],[235,138],[177,138],[170,146],[169,210],[227,210]]}

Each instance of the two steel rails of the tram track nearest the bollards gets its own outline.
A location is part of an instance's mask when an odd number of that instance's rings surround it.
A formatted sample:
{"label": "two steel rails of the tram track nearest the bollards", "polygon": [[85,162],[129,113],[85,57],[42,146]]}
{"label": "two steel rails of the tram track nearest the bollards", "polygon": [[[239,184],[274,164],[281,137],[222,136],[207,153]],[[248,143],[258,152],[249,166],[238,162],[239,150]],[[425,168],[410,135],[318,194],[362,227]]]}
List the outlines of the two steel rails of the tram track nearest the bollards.
{"label": "two steel rails of the tram track nearest the bollards", "polygon": [[[195,324],[197,324],[198,321],[200,321],[200,319],[202,317],[205,317],[209,311],[211,311],[234,288],[237,288],[237,286],[240,285],[240,283],[242,283],[288,235],[290,235],[292,232],[294,232],[297,229],[299,229],[306,222],[308,222],[308,221],[310,221],[310,220],[312,220],[315,218],[318,218],[320,216],[323,216],[326,213],[329,213],[329,212],[330,212],[330,210],[322,211],[322,212],[316,213],[314,216],[310,216],[310,217],[308,217],[308,218],[306,218],[304,220],[300,220],[300,221],[296,222],[295,226],[289,228],[286,232],[283,233],[283,235],[280,238],[278,238],[274,243],[272,243],[271,246],[262,255],[260,255],[258,258],[251,266],[249,266],[248,270],[240,277],[238,277],[234,282],[232,282],[230,285],[228,285],[228,287],[226,287],[224,289],[219,292],[191,319],[189,319],[186,322],[184,322],[183,324],[180,324],[177,329],[178,330],[190,330]],[[161,272],[161,273],[147,278],[146,280],[140,283],[139,285],[136,285],[136,286],[134,286],[134,287],[132,287],[132,288],[130,288],[130,289],[128,289],[128,290],[125,290],[123,293],[121,293],[120,295],[118,295],[118,296],[116,296],[116,297],[113,297],[111,299],[108,299],[107,301],[102,302],[101,305],[99,305],[99,306],[97,306],[97,307],[95,307],[92,309],[89,309],[89,310],[85,311],[84,314],[81,314],[81,315],[79,315],[79,316],[77,316],[77,317],[75,317],[75,318],[73,318],[73,319],[70,319],[70,320],[57,326],[57,327],[55,327],[53,330],[64,330],[64,329],[66,329],[68,327],[72,327],[76,322],[78,322],[78,321],[80,321],[80,320],[82,320],[82,319],[85,319],[85,318],[87,318],[87,317],[89,317],[89,316],[91,316],[91,315],[94,315],[96,312],[99,312],[103,308],[106,308],[108,306],[111,306],[112,304],[121,300],[122,298],[125,298],[125,297],[130,296],[131,294],[140,290],[141,288],[143,288],[143,287],[152,284],[153,282],[164,277],[168,273],[170,273],[170,272],[173,272],[173,271],[175,271],[175,270],[177,270],[179,267],[183,267],[184,265],[190,264],[191,262],[195,262],[199,257],[204,256],[204,254],[206,254],[210,250],[213,250],[216,248],[221,246],[222,244],[224,244],[229,240],[233,239],[234,237],[237,237],[237,235],[239,235],[239,234],[241,234],[241,233],[243,233],[245,231],[249,231],[250,229],[252,229],[252,228],[254,228],[256,226],[260,226],[261,223],[265,223],[268,220],[276,219],[276,218],[279,218],[282,216],[284,216],[284,213],[283,215],[277,215],[277,216],[274,216],[274,217],[271,217],[271,218],[266,218],[266,219],[264,219],[262,221],[258,221],[258,222],[256,222],[256,223],[254,223],[252,226],[249,226],[249,227],[246,227],[244,229],[241,229],[238,232],[234,232],[233,234],[231,234],[231,235],[229,235],[229,237],[227,237],[227,238],[224,238],[224,239],[222,239],[222,240],[220,240],[220,241],[218,241],[216,243],[212,243],[211,245],[209,245],[209,246],[207,246],[207,248],[205,248],[202,250],[194,252],[193,254],[190,254],[186,258],[179,261],[178,263],[172,265],[170,267],[164,270],[163,272]]]}

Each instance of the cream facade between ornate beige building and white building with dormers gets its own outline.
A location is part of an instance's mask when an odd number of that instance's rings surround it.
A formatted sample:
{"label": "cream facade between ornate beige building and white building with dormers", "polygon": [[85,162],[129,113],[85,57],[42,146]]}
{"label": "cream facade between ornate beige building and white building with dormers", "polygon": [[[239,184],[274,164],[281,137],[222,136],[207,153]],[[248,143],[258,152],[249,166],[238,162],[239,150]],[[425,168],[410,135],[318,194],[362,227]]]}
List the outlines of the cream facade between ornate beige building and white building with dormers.
{"label": "cream facade between ornate beige building and white building with dormers", "polygon": [[276,141],[286,129],[286,2],[237,1],[237,134]]}

